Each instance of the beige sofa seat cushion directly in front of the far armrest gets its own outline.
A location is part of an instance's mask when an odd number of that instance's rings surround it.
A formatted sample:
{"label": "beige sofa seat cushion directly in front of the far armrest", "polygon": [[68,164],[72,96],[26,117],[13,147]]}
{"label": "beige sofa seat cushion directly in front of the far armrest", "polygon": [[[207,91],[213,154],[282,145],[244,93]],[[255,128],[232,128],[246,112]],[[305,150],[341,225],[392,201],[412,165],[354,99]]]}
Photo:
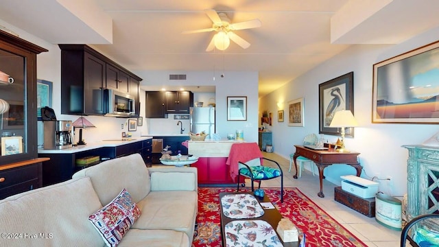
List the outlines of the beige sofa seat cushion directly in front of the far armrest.
{"label": "beige sofa seat cushion directly in front of the far armrest", "polygon": [[198,209],[196,191],[151,191],[137,205],[142,214],[132,228],[182,231],[192,241]]}

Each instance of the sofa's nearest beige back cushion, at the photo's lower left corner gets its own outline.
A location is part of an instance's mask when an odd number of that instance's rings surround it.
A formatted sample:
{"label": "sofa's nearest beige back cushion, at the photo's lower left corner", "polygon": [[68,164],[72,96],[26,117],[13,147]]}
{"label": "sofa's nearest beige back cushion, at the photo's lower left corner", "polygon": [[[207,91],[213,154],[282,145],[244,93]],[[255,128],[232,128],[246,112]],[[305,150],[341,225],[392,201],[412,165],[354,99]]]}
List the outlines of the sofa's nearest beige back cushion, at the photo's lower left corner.
{"label": "sofa's nearest beige back cushion, at the photo's lower left corner", "polygon": [[90,178],[34,189],[0,200],[0,246],[104,246],[87,217],[102,207]]}

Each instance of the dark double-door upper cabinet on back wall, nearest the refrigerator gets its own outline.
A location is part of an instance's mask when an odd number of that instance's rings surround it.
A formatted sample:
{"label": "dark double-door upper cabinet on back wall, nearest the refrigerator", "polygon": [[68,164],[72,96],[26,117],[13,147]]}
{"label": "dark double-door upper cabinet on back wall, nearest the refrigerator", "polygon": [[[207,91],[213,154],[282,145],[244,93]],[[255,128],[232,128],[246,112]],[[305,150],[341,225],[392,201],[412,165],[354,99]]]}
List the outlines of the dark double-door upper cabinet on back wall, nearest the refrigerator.
{"label": "dark double-door upper cabinet on back wall, nearest the refrigerator", "polygon": [[166,113],[189,114],[189,107],[193,106],[191,91],[167,91],[165,93]]}

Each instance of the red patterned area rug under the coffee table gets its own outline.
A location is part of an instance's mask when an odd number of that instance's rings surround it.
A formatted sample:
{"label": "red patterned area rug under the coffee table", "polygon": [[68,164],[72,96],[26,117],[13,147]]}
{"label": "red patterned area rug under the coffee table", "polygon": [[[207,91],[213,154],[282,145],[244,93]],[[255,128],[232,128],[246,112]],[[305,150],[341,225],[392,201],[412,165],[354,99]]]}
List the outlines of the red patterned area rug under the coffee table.
{"label": "red patterned area rug under the coffee table", "polygon": [[[281,215],[289,218],[300,234],[305,233],[307,247],[366,246],[297,188],[284,188],[283,203],[279,190],[280,188],[264,188],[265,194]],[[236,188],[198,188],[198,225],[195,227],[193,247],[222,246],[219,192],[224,191],[234,192]],[[240,191],[250,192],[250,189],[243,188]]]}

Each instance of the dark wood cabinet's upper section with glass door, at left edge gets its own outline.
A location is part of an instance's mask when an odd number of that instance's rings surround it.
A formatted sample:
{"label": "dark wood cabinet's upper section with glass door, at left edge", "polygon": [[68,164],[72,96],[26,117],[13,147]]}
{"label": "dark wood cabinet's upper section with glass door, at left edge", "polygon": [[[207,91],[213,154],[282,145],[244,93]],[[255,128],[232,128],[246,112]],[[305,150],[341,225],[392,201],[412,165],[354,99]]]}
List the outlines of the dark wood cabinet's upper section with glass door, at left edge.
{"label": "dark wood cabinet's upper section with glass door, at left edge", "polygon": [[47,51],[0,31],[0,165],[36,158],[36,54]]}

